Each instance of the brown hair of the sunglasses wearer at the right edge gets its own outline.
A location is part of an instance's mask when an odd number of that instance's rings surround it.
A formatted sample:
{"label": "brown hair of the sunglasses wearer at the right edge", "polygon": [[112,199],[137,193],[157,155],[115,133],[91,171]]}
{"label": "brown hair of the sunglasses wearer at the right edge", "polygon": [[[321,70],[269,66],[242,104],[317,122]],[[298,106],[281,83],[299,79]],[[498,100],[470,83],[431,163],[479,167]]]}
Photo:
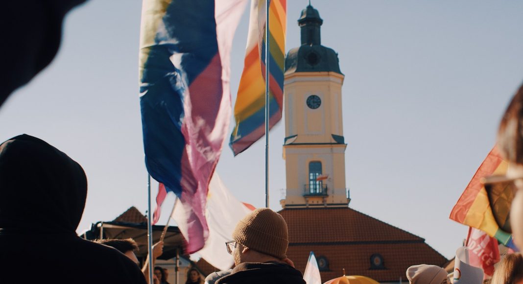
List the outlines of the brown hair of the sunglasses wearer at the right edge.
{"label": "brown hair of the sunglasses wearer at the right edge", "polygon": [[505,160],[523,164],[523,85],[510,101],[499,123],[497,146]]}

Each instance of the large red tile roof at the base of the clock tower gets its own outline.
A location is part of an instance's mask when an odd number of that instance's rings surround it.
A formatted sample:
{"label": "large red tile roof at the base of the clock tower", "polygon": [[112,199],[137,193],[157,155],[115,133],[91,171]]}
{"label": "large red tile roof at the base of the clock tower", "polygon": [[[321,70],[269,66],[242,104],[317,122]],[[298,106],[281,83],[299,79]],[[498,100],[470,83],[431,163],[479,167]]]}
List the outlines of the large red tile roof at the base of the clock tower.
{"label": "large red tile roof at the base of the clock tower", "polygon": [[[351,208],[283,209],[289,228],[287,255],[303,272],[311,251],[326,257],[329,271],[322,281],[343,275],[363,275],[379,282],[405,279],[411,265],[442,266],[447,259],[419,236]],[[385,269],[370,269],[370,257],[380,254]]]}

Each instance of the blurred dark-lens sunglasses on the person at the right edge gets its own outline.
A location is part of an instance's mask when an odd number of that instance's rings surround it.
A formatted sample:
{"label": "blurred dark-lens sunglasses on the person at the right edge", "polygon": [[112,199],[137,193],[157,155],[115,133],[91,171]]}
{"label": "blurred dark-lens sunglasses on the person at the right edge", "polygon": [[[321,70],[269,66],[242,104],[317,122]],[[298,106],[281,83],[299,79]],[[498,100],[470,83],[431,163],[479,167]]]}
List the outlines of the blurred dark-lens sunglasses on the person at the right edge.
{"label": "blurred dark-lens sunglasses on the person at the right edge", "polygon": [[494,219],[500,229],[511,233],[509,222],[510,205],[518,188],[514,184],[523,177],[509,178],[504,175],[493,175],[481,179],[485,187]]}

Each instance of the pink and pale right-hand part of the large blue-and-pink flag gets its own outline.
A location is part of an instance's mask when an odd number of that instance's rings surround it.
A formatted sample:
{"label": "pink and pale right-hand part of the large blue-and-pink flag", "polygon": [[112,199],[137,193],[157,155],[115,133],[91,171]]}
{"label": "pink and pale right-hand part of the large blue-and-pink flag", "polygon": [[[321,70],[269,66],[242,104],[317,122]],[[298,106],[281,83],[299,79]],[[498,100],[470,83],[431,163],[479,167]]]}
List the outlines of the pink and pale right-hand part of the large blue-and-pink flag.
{"label": "pink and pale right-hand part of the large blue-and-pink flag", "polygon": [[215,19],[218,54],[189,86],[181,131],[186,148],[181,163],[180,197],[186,212],[186,252],[199,251],[209,236],[205,219],[207,192],[214,168],[229,131],[231,117],[230,53],[234,32],[240,21],[244,0],[216,0]]}

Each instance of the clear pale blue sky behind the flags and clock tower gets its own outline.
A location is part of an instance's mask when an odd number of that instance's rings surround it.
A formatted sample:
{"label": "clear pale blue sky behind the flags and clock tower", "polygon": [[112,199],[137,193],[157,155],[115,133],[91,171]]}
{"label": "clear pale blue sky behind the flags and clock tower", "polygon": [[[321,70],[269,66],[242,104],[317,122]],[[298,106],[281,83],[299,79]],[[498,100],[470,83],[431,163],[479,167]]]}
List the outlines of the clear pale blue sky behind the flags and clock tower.
{"label": "clear pale blue sky behind the flags and clock tower", "polygon": [[[287,50],[300,43],[296,20],[307,4],[288,0]],[[523,2],[312,5],[324,19],[322,43],[339,53],[345,74],[349,206],[424,237],[452,257],[467,228],[448,215],[493,146],[499,118],[523,80]],[[140,9],[139,0],[91,0],[75,9],[65,21],[57,58],[0,109],[0,140],[35,135],[84,167],[89,191],[78,231],[130,206],[147,208],[138,99]],[[233,99],[247,17],[234,41]],[[283,123],[270,133],[275,210],[285,188],[284,135]],[[218,172],[238,199],[264,206],[263,141],[236,158],[225,146]],[[160,223],[172,201],[166,201]]]}

